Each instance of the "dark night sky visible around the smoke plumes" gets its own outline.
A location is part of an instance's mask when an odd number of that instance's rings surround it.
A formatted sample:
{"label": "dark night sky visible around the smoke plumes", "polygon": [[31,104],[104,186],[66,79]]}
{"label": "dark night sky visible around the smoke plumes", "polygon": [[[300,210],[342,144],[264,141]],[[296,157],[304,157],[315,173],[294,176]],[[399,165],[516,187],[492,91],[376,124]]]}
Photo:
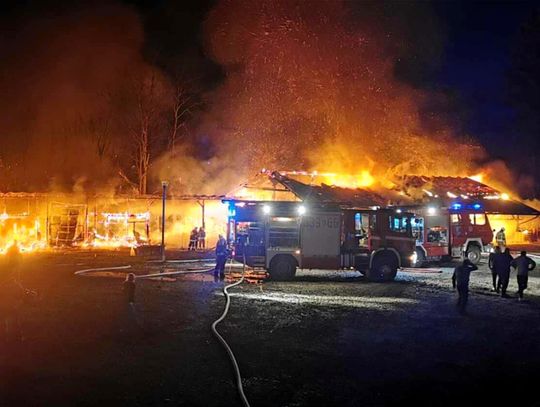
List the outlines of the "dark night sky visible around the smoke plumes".
{"label": "dark night sky visible around the smoke plumes", "polygon": [[[203,35],[204,22],[215,3],[124,1],[116,4],[131,8],[140,16],[144,59],[166,73],[172,73],[181,64],[184,70],[196,74],[199,89],[205,93],[218,88],[227,77],[226,69],[209,56]],[[83,2],[81,7],[102,4],[115,3]],[[427,122],[433,112],[444,115],[456,133],[487,150],[489,156],[479,157],[479,161],[502,159],[511,169],[521,194],[539,196],[540,164],[536,159],[540,147],[536,110],[539,96],[530,91],[527,94],[522,84],[520,88],[510,79],[512,72],[515,74],[522,67],[523,57],[529,67],[538,62],[536,2],[386,2],[380,7],[372,7],[375,3],[369,2],[348,4],[353,14],[356,10],[359,19],[365,18],[364,9],[376,9],[371,15],[373,24],[380,19],[389,32],[390,27],[399,25],[400,32],[405,33],[407,52],[396,59],[395,77],[414,89],[445,95],[443,102],[426,104]],[[3,30],[5,44],[16,38],[18,24],[27,24],[34,16],[44,13],[54,21],[57,12],[73,8],[73,3],[26,1],[3,7],[3,21],[10,22],[9,28]],[[520,32],[526,24],[529,30],[524,40]],[[539,79],[538,73],[530,70],[526,80],[533,83],[529,87],[533,89]],[[194,139],[195,146],[205,143],[202,130],[198,132],[201,134]],[[208,151],[209,147],[204,148]]]}

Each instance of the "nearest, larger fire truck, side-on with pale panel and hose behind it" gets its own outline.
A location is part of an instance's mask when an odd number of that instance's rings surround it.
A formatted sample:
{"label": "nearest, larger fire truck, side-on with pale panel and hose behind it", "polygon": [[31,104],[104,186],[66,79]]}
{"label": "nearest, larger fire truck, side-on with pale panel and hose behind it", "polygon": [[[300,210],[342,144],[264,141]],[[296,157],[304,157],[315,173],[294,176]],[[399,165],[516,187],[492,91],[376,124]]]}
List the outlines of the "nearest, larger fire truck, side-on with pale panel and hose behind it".
{"label": "nearest, larger fire truck, side-on with pale panel and hose behind it", "polygon": [[290,280],[296,269],[356,269],[391,281],[415,253],[412,213],[292,201],[225,200],[233,256]]}

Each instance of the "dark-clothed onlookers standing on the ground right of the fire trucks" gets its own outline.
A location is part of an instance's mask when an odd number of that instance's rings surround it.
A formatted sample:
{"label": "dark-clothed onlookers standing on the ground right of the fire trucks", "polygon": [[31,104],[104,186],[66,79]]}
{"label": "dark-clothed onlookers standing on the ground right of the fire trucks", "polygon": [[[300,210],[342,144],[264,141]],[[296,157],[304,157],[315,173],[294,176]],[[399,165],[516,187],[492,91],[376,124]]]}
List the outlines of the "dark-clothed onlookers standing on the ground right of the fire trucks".
{"label": "dark-clothed onlookers standing on the ground right of the fire trucks", "polygon": [[[527,289],[529,272],[536,267],[536,263],[527,256],[527,252],[522,251],[518,257],[513,258],[508,248],[497,246],[495,251],[489,256],[488,266],[493,279],[493,291],[500,293],[503,298],[510,298],[506,290],[510,282],[511,269],[514,268],[516,270],[518,299],[521,301],[523,299],[523,292]],[[475,270],[478,270],[478,267],[469,259],[465,259],[461,265],[454,269],[452,286],[454,289],[457,288],[457,308],[460,314],[465,314],[469,297],[469,279],[471,272]]]}

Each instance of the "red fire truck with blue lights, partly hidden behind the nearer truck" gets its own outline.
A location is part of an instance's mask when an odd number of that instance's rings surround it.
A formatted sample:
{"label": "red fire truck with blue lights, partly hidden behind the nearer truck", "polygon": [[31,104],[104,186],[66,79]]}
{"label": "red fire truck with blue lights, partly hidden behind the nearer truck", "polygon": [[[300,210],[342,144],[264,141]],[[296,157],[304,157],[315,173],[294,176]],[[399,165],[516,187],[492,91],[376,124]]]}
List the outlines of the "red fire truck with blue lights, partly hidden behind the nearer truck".
{"label": "red fire truck with blue lights, partly hidden behind the nearer truck", "polygon": [[492,250],[493,231],[482,204],[454,202],[449,206],[408,207],[416,250],[413,266],[427,261],[468,258],[474,264]]}

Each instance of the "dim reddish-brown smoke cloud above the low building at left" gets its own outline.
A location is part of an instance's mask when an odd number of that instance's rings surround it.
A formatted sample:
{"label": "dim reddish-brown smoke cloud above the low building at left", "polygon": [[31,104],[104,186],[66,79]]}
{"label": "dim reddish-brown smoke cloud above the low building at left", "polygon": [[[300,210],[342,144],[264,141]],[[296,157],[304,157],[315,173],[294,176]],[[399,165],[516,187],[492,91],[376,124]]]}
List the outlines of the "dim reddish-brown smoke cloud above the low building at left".
{"label": "dim reddish-brown smoke cloud above the low building at left", "polygon": [[108,181],[128,141],[108,101],[126,77],[153,69],[141,56],[139,16],[93,5],[8,17],[0,37],[0,190]]}

